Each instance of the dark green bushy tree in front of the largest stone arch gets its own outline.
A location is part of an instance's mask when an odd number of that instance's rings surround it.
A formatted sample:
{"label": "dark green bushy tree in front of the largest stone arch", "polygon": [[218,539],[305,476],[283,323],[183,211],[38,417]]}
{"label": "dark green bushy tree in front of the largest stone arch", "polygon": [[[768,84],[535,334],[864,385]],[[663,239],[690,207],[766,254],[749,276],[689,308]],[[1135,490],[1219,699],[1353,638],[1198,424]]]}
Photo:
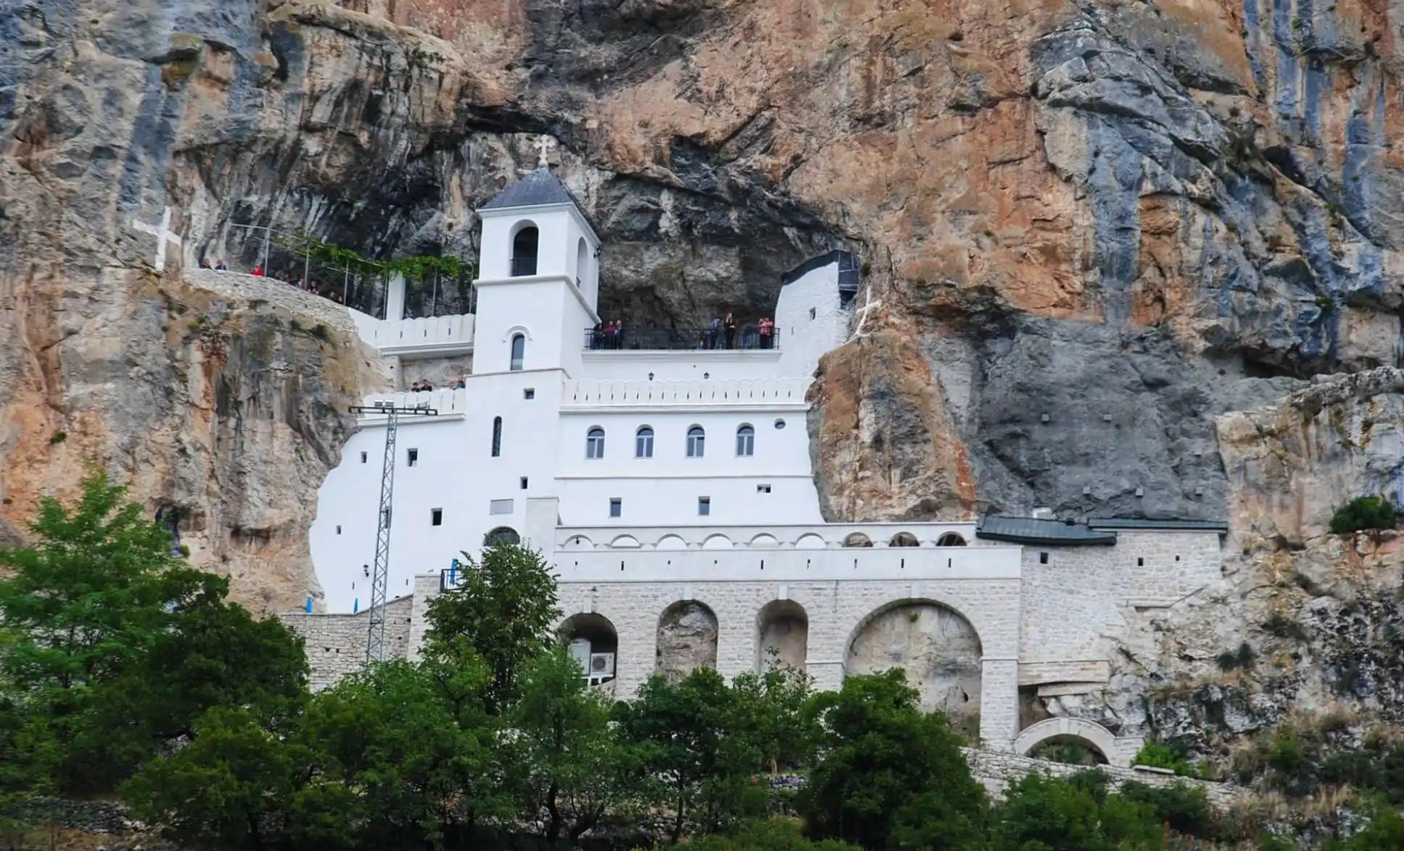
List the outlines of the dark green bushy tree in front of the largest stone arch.
{"label": "dark green bushy tree in front of the largest stone arch", "polygon": [[848,677],[816,708],[820,761],[799,796],[813,836],[873,850],[979,847],[984,791],[946,719],[921,712],[900,668]]}

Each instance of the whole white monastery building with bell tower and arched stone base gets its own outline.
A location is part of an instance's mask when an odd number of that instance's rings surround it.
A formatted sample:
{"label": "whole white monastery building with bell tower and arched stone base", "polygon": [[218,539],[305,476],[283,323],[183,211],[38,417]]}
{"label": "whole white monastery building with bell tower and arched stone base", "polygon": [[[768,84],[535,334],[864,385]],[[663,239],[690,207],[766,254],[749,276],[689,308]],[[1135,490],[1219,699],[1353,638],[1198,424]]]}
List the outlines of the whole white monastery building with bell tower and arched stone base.
{"label": "whole white monastery building with bell tower and arched stone base", "polygon": [[[1221,524],[826,522],[804,396],[820,355],[862,333],[852,256],[788,275],[769,334],[600,334],[600,237],[550,170],[477,212],[476,315],[352,310],[402,383],[448,364],[465,385],[365,402],[437,411],[397,426],[395,652],[417,654],[462,550],[521,541],[559,574],[583,675],[618,697],[698,664],[734,675],[778,657],[823,688],[900,666],[986,747],[1075,737],[1129,764],[1140,739],[1116,736],[1115,719],[1040,718],[1033,698],[1095,695],[1109,636],[1221,583]],[[392,286],[388,316],[403,299]],[[288,615],[320,685],[364,656],[385,426],[361,417],[319,494],[324,612]]]}

